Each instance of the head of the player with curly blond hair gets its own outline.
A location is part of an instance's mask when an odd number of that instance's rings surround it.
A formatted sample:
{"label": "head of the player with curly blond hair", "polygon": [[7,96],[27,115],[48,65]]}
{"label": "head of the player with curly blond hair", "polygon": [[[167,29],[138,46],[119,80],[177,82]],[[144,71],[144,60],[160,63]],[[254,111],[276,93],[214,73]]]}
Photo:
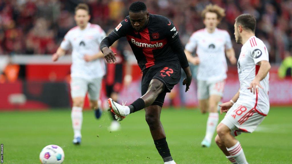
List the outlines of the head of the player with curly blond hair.
{"label": "head of the player with curly blond hair", "polygon": [[215,29],[223,17],[225,10],[218,5],[209,4],[202,11],[203,22],[208,29]]}

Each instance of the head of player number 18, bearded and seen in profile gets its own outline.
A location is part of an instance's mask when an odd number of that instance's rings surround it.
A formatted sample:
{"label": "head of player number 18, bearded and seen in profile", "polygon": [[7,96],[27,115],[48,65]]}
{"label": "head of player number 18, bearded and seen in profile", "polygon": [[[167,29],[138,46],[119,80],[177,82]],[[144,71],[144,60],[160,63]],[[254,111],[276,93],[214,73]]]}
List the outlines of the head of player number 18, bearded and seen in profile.
{"label": "head of player number 18, bearded and seen in profile", "polygon": [[256,19],[250,14],[239,15],[234,23],[234,36],[236,43],[242,44],[242,35],[246,32],[255,33]]}

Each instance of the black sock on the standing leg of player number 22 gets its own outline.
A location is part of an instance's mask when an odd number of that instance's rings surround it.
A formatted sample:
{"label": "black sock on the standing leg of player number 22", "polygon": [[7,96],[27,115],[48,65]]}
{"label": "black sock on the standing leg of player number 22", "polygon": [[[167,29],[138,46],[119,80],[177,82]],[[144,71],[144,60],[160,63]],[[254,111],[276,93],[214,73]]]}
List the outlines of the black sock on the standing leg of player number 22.
{"label": "black sock on the standing leg of player number 22", "polygon": [[154,141],[154,144],[164,162],[173,160],[166,142],[166,138],[157,139]]}

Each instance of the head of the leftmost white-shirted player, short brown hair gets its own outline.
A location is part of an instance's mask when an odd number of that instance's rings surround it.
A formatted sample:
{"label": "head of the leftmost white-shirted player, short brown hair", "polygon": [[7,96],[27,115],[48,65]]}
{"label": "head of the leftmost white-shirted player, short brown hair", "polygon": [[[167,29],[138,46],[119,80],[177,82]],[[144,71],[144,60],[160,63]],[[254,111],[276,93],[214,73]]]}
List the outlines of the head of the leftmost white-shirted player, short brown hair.
{"label": "head of the leftmost white-shirted player, short brown hair", "polygon": [[87,4],[78,4],[75,8],[75,16],[77,26],[81,29],[85,28],[88,21],[90,20],[89,7]]}

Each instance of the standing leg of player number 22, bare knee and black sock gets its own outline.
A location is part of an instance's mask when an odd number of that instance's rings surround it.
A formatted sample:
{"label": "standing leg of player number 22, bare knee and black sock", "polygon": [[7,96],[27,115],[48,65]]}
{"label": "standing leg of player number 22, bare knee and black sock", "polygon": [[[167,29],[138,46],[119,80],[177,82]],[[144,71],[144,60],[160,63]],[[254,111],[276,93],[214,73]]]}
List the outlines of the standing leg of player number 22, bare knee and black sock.
{"label": "standing leg of player number 22, bare knee and black sock", "polygon": [[166,135],[160,122],[161,107],[159,105],[151,105],[145,107],[145,119],[149,125],[149,129],[154,140],[155,147],[165,163],[175,163],[171,157]]}

